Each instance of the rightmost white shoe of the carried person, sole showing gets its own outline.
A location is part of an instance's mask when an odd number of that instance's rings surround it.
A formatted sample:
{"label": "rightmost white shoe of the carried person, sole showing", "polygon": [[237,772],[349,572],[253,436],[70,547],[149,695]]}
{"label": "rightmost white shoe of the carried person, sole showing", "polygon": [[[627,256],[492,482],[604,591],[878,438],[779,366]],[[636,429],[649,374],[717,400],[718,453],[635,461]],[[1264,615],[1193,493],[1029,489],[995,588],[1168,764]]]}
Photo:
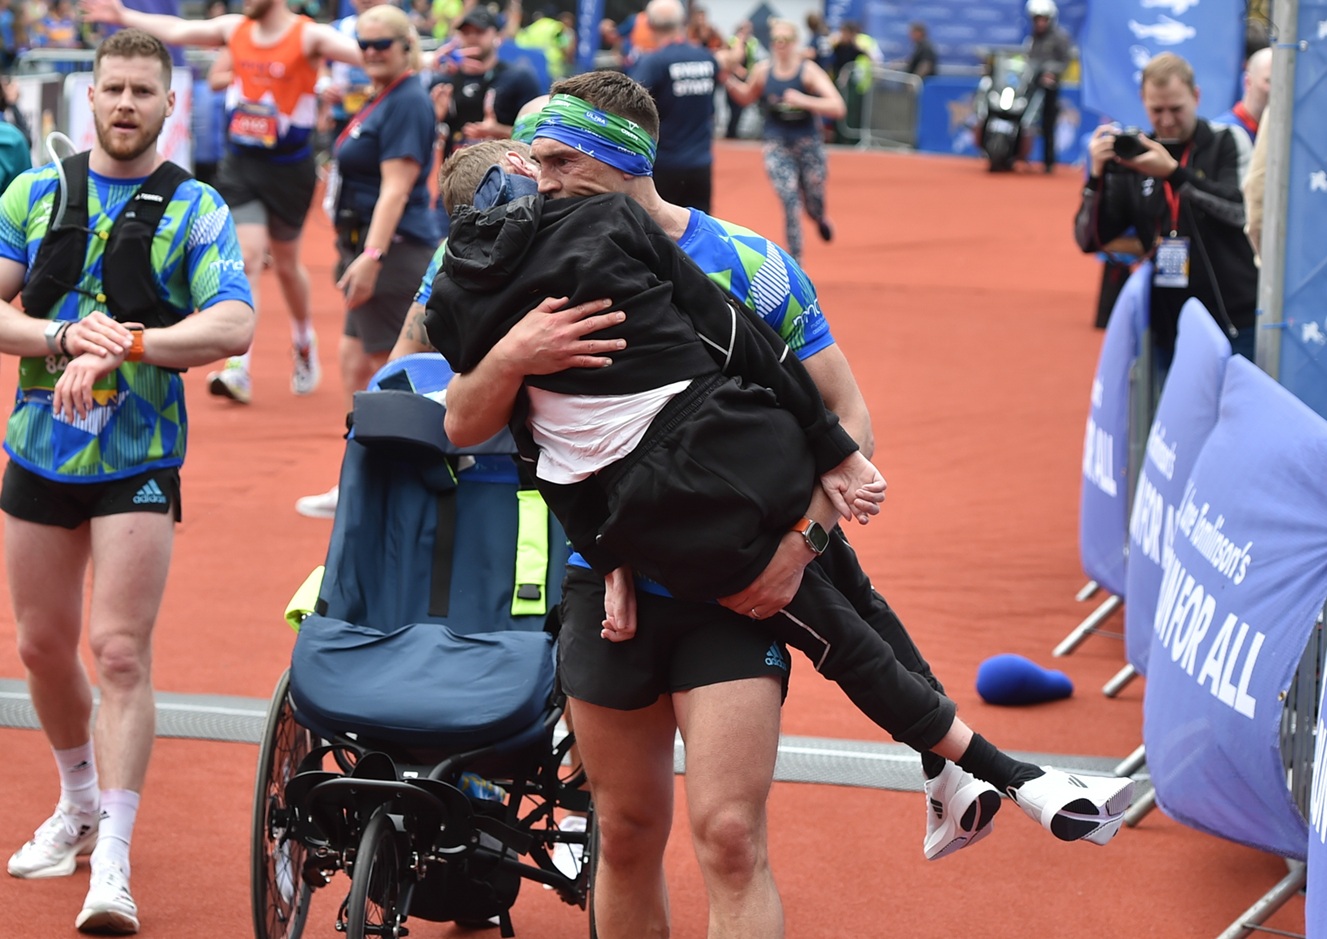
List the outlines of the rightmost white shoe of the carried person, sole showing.
{"label": "rightmost white shoe of the carried person, sole showing", "polygon": [[1115,837],[1133,798],[1133,780],[1042,769],[1044,776],[1009,792],[1032,821],[1060,841],[1104,845]]}

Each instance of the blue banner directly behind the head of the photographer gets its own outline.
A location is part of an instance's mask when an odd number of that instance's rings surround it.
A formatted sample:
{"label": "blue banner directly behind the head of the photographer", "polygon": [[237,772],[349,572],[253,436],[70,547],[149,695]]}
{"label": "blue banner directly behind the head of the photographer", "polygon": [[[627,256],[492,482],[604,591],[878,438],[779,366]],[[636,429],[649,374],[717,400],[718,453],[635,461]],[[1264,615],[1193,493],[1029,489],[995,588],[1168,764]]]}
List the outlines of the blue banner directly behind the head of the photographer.
{"label": "blue banner directly behind the head of the photographer", "polygon": [[1184,56],[1216,117],[1239,99],[1245,0],[1112,0],[1088,5],[1079,54],[1083,106],[1123,125],[1151,129],[1143,110],[1143,66],[1161,52]]}

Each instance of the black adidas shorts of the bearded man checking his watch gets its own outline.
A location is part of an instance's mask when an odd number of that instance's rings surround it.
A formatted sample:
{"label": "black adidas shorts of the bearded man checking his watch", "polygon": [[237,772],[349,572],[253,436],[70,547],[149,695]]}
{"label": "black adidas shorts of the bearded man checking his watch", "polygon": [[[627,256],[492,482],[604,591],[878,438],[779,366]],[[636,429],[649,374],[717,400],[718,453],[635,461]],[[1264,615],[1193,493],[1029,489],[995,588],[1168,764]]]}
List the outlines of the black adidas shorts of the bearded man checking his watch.
{"label": "black adidas shorts of the bearded man checking his watch", "polygon": [[178,523],[179,467],[97,483],[57,483],[9,460],[0,487],[0,509],[23,521],[69,531],[89,519],[126,512],[171,513]]}

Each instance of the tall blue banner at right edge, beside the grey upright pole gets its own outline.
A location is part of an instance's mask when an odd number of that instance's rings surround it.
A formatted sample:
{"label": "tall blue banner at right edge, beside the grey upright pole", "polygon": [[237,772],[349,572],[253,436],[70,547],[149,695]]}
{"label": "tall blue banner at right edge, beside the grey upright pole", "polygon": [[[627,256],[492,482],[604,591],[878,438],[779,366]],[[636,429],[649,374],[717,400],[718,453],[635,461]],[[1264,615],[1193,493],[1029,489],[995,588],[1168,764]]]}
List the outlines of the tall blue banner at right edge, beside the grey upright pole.
{"label": "tall blue banner at right edge, beside the grey upright pole", "polygon": [[[1327,0],[1299,0],[1281,383],[1327,416]],[[1273,337],[1274,338],[1274,337]],[[1275,338],[1274,338],[1275,341]]]}

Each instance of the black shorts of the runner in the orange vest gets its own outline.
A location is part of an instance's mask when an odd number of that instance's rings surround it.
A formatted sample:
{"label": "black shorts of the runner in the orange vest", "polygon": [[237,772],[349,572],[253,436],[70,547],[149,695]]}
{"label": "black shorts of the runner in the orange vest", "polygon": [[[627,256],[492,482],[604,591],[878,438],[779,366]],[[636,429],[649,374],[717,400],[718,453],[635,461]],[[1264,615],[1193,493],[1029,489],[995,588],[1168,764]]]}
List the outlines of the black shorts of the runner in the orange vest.
{"label": "black shorts of the runner in the orange vest", "polygon": [[235,224],[265,221],[276,241],[300,236],[317,182],[313,154],[293,163],[275,163],[265,156],[227,150],[216,170],[216,191],[231,207]]}

